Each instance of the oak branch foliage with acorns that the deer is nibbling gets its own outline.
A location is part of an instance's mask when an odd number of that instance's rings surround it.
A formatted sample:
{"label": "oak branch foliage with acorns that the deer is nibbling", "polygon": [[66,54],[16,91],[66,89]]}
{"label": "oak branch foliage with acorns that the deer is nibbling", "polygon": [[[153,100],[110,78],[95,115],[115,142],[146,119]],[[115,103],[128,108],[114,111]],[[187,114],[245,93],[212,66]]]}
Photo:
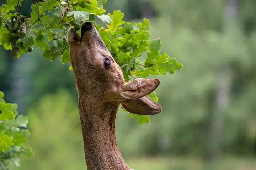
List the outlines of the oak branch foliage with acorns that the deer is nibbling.
{"label": "oak branch foliage with acorns that the deer is nibbling", "polygon": [[[31,6],[30,18],[19,11],[22,1],[8,0],[0,7],[0,44],[12,50],[13,57],[19,58],[23,53],[32,52],[31,46],[34,45],[44,51],[46,60],[61,57],[62,63],[69,63],[67,30],[70,26],[80,28],[82,22],[89,21],[94,23],[108,50],[121,66],[126,81],[130,77],[174,74],[183,67],[176,59],[169,59],[169,55],[160,53],[162,44],[159,38],[149,41],[148,19],[138,24],[125,22],[120,10],[105,15],[103,4],[106,0],[37,0]],[[15,9],[15,13],[10,12]],[[53,12],[54,16],[46,15],[46,11]],[[95,17],[107,22],[107,28],[96,24]],[[138,57],[143,52],[147,52],[147,57],[140,62]],[[153,96],[156,97],[155,93]],[[136,117],[141,124],[150,122],[149,116]]]}

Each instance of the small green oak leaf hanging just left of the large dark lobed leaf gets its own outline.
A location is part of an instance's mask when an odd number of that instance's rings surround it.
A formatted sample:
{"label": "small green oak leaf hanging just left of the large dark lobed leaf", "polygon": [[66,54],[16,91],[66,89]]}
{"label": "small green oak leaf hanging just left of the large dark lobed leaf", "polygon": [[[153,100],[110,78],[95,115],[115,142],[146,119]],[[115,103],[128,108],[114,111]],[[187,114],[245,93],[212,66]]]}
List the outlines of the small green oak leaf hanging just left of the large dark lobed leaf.
{"label": "small green oak leaf hanging just left of the large dark lobed leaf", "polygon": [[42,27],[38,28],[38,30],[34,29],[36,33],[36,38],[34,39],[34,47],[40,46],[43,51],[48,47],[48,43],[45,41],[46,36]]}

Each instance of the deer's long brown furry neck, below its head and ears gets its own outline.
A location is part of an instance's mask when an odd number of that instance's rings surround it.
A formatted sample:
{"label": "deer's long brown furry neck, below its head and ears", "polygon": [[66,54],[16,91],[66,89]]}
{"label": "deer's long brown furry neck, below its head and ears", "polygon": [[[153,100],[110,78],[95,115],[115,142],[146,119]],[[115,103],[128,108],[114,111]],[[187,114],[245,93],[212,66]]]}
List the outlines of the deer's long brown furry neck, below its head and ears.
{"label": "deer's long brown furry neck, below its head and ears", "polygon": [[119,103],[78,104],[87,170],[129,170],[118,149],[115,119]]}

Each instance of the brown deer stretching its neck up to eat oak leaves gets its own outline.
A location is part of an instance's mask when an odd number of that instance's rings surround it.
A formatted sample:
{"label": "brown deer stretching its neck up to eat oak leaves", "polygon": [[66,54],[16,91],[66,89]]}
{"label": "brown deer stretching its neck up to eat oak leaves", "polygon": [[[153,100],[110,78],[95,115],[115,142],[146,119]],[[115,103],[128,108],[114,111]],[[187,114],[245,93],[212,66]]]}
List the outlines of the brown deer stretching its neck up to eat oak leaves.
{"label": "brown deer stretching its neck up to eat oak leaves", "polygon": [[72,27],[69,28],[67,40],[78,93],[87,170],[130,170],[116,141],[117,110],[121,104],[133,114],[161,113],[160,104],[146,97],[160,81],[136,78],[125,82],[121,67],[94,24],[83,22],[80,29],[81,37]]}

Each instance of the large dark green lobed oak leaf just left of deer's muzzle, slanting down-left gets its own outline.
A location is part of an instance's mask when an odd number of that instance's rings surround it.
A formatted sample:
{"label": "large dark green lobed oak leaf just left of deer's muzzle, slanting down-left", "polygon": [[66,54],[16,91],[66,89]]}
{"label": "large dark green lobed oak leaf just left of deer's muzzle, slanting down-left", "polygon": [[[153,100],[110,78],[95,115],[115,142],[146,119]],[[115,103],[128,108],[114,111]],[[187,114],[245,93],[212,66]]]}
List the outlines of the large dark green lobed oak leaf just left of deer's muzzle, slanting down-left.
{"label": "large dark green lobed oak leaf just left of deer's muzzle, slanting down-left", "polygon": [[67,41],[63,41],[61,39],[53,40],[54,46],[50,45],[48,49],[46,49],[43,53],[43,56],[46,60],[54,60],[58,56],[62,55],[65,50],[68,50],[69,44]]}

